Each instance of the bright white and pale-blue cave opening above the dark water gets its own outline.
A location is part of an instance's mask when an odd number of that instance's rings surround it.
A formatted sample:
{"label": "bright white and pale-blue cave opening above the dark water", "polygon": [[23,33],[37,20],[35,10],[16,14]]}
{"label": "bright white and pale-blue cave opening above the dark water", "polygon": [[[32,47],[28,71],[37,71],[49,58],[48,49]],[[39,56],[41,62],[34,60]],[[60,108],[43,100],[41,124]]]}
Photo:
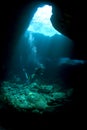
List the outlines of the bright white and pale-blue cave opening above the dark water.
{"label": "bright white and pale-blue cave opening above the dark water", "polygon": [[46,36],[53,36],[55,34],[61,35],[53,26],[50,21],[52,16],[52,6],[44,5],[39,7],[34,14],[27,31],[34,33],[41,33]]}

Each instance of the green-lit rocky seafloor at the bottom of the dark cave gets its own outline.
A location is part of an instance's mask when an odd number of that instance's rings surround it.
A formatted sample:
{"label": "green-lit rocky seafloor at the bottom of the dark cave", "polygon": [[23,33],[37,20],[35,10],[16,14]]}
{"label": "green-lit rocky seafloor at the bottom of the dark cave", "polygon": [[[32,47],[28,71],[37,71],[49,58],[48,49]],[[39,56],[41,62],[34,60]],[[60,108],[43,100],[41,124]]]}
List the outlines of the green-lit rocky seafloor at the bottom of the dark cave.
{"label": "green-lit rocky seafloor at the bottom of the dark cave", "polygon": [[63,89],[58,84],[41,84],[4,81],[1,86],[0,100],[17,111],[44,113],[57,111],[71,102],[73,88]]}

